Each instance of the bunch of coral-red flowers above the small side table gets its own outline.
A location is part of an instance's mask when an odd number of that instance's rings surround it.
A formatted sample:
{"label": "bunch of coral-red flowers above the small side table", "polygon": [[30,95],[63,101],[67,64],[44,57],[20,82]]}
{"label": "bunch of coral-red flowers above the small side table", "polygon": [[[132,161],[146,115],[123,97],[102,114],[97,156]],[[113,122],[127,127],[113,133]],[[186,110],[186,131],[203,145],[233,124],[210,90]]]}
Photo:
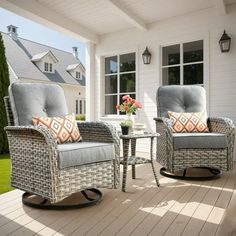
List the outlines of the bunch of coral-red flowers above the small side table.
{"label": "bunch of coral-red flowers above the small side table", "polygon": [[121,112],[126,112],[126,114],[127,113],[133,114],[138,109],[142,108],[141,103],[131,98],[130,95],[123,96],[122,100],[123,100],[122,104],[116,105],[116,109]]}

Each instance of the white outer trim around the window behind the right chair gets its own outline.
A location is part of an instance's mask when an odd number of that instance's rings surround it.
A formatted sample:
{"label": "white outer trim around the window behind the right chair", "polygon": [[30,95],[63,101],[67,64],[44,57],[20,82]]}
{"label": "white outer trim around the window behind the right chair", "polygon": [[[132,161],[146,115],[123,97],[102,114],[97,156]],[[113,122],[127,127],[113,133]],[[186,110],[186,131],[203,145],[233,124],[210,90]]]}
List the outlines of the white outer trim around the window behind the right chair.
{"label": "white outer trim around the window behind the right chair", "polygon": [[[192,36],[187,36],[187,37],[180,37],[179,39],[173,40],[173,41],[169,41],[169,42],[157,42],[159,47],[158,47],[158,51],[159,51],[159,66],[157,68],[158,70],[158,77],[159,77],[159,85],[162,86],[162,47],[166,47],[166,46],[171,46],[171,45],[175,45],[175,44],[180,44],[183,45],[183,43],[187,43],[187,42],[194,42],[194,41],[198,41],[198,40],[203,40],[203,62],[204,62],[204,66],[203,66],[203,85],[204,88],[206,90],[206,102],[207,102],[207,113],[208,116],[211,115],[211,111],[210,111],[210,86],[209,86],[209,80],[210,80],[210,68],[209,68],[209,51],[210,51],[210,35],[209,32],[203,32],[203,33],[197,33],[194,34]],[[190,63],[193,64],[193,63]],[[183,68],[183,67],[180,67]],[[181,72],[181,76],[183,76],[183,73]]]}

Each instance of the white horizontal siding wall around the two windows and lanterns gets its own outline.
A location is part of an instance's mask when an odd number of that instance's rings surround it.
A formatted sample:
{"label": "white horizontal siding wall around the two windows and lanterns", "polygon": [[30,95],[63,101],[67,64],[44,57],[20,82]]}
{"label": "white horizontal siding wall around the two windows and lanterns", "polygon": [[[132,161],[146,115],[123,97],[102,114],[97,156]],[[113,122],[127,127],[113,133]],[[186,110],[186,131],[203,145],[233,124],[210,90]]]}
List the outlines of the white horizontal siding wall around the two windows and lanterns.
{"label": "white horizontal siding wall around the two windows and lanterns", "polygon": [[[161,7],[161,6],[160,6]],[[221,53],[219,39],[223,30],[231,36],[231,50]],[[236,123],[236,5],[227,7],[226,15],[219,15],[216,9],[206,9],[157,22],[147,32],[130,29],[101,38],[96,47],[95,117],[98,120],[118,124],[119,120],[103,117],[103,60],[102,56],[116,53],[137,52],[137,99],[143,104],[136,120],[145,122],[149,130],[155,131],[153,117],[156,117],[156,90],[160,85],[160,46],[204,39],[205,79],[209,96],[210,116],[226,116]],[[152,61],[142,62],[142,53],[148,46]],[[100,102],[101,101],[101,102]],[[147,149],[147,142],[138,145]]]}

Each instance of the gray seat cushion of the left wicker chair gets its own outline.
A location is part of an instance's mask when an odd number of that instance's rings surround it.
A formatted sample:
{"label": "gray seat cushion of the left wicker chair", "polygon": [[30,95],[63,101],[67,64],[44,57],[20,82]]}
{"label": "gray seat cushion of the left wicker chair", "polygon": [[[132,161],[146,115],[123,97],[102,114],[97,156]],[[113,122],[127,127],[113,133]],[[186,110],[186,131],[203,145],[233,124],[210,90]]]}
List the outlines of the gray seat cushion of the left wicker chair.
{"label": "gray seat cushion of the left wicker chair", "polygon": [[58,145],[59,168],[115,159],[112,143],[79,142]]}

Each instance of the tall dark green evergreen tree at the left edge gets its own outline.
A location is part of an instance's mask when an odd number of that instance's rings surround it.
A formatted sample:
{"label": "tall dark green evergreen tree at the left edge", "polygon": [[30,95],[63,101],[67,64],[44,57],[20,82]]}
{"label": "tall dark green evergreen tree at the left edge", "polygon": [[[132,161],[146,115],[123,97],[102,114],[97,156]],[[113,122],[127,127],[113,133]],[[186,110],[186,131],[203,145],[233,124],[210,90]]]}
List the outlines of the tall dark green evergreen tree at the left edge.
{"label": "tall dark green evergreen tree at the left edge", "polygon": [[0,33],[0,153],[8,153],[8,142],[4,127],[7,126],[7,116],[3,97],[8,94],[10,85],[8,65],[5,56],[5,47]]}

